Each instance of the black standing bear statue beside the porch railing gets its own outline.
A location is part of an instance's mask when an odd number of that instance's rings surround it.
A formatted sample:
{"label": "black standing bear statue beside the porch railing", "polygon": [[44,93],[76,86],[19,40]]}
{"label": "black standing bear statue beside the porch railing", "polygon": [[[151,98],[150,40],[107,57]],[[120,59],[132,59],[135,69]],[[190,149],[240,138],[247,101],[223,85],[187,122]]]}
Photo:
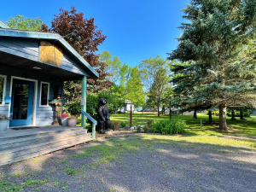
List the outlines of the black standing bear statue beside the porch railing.
{"label": "black standing bear statue beside the porch railing", "polygon": [[100,98],[98,106],[98,130],[101,133],[110,131],[110,113],[108,111],[107,99]]}

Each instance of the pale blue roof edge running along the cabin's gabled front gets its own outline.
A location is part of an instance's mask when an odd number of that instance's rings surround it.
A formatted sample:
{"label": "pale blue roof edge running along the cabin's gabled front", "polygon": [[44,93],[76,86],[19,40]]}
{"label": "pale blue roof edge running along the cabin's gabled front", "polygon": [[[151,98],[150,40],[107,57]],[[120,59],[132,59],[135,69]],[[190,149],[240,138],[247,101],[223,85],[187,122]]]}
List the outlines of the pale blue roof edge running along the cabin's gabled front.
{"label": "pale blue roof edge running along the cabin's gabled front", "polygon": [[16,30],[16,29],[10,29],[10,28],[3,28],[3,27],[9,27],[6,26],[3,21],[0,20],[0,37],[15,37],[15,38],[37,38],[37,39],[50,39],[55,40],[59,42],[63,47],[67,49],[67,51],[73,55],[75,58],[78,59],[80,63],[83,64],[83,66],[90,70],[90,72],[94,75],[94,78],[98,78],[99,74],[96,72],[96,70],[90,66],[90,64],[84,60],[84,58],[79,55],[79,53],[73,49],[73,47],[65,41],[64,38],[61,37],[61,35],[57,33],[51,33],[51,32],[31,32],[31,31],[23,31],[23,30]]}

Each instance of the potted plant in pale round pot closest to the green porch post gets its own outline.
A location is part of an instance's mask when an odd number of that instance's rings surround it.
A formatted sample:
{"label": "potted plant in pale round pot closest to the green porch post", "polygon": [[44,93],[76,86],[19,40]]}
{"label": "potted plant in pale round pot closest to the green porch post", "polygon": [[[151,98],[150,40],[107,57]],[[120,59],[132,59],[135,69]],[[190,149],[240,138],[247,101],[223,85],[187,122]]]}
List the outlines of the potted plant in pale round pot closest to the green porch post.
{"label": "potted plant in pale round pot closest to the green porch post", "polygon": [[68,108],[67,111],[71,114],[67,119],[68,126],[76,126],[78,118],[81,113],[81,104],[80,102],[73,102]]}

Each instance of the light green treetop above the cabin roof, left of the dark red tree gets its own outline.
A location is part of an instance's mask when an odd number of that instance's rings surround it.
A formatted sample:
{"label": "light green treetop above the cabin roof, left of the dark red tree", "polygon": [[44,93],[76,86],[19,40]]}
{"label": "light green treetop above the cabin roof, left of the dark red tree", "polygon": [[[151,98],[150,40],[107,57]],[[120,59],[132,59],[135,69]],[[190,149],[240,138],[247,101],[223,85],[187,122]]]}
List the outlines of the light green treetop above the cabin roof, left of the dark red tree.
{"label": "light green treetop above the cabin roof, left of the dark red tree", "polygon": [[26,31],[39,31],[43,25],[43,21],[40,18],[24,18],[22,15],[16,15],[15,18],[10,17],[6,20],[6,24],[12,29],[20,29]]}

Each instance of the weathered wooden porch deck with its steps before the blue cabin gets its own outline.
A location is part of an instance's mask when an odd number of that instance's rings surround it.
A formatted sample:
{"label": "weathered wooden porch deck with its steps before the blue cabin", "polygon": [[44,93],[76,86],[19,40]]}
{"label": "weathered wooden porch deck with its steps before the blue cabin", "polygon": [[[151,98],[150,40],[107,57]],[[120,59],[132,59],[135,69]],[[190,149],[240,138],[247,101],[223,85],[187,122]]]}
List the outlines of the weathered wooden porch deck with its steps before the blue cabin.
{"label": "weathered wooden porch deck with its steps before the blue cabin", "polygon": [[86,143],[93,138],[83,127],[38,126],[0,131],[0,166]]}

